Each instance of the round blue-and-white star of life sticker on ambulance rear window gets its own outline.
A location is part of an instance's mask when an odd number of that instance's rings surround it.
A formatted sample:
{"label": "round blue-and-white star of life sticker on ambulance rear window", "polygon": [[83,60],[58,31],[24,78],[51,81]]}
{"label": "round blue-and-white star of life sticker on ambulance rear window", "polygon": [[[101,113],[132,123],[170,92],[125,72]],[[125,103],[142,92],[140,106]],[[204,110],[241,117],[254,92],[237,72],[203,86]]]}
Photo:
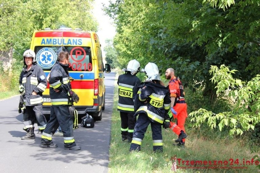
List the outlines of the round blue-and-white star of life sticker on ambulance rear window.
{"label": "round blue-and-white star of life sticker on ambulance rear window", "polygon": [[42,48],[36,55],[36,61],[42,69],[50,69],[56,60],[56,53],[51,48]]}

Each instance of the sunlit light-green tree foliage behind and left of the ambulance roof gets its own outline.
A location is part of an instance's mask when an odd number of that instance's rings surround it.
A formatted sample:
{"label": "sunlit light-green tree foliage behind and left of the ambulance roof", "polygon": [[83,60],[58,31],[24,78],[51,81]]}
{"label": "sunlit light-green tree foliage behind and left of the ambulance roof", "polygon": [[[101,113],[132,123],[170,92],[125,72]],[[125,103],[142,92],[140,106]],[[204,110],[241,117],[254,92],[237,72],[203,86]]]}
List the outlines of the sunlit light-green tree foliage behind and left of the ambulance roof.
{"label": "sunlit light-green tree foliage behind and left of the ambulance roof", "polygon": [[[93,0],[1,0],[0,50],[14,48],[14,55],[22,55],[31,44],[34,30],[60,26],[72,29],[97,30],[92,16]],[[21,56],[20,56],[21,57]]]}

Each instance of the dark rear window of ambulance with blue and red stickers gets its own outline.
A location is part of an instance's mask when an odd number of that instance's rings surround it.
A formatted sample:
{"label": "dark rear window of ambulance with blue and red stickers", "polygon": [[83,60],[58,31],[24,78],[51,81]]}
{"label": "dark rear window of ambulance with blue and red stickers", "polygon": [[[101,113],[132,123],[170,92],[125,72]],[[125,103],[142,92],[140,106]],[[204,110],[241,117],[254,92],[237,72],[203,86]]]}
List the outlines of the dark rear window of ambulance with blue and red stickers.
{"label": "dark rear window of ambulance with blue and red stickers", "polygon": [[51,70],[60,51],[67,51],[70,54],[69,71],[92,71],[90,47],[37,46],[35,51],[38,65],[46,71]]}

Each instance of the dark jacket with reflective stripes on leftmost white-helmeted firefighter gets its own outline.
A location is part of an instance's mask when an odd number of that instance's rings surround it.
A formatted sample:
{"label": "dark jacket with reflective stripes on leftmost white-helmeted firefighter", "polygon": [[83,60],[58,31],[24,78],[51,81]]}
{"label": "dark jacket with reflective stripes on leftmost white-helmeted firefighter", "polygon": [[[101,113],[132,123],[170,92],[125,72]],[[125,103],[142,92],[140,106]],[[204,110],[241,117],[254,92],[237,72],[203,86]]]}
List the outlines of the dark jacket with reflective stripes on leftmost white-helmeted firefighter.
{"label": "dark jacket with reflective stripes on leftmost white-helmeted firefighter", "polygon": [[[43,103],[42,93],[47,87],[47,80],[45,73],[36,63],[32,64],[30,70],[27,70],[27,66],[23,68],[19,83],[23,85],[25,90],[23,99],[26,106]],[[37,95],[32,95],[33,92],[37,93]]]}

